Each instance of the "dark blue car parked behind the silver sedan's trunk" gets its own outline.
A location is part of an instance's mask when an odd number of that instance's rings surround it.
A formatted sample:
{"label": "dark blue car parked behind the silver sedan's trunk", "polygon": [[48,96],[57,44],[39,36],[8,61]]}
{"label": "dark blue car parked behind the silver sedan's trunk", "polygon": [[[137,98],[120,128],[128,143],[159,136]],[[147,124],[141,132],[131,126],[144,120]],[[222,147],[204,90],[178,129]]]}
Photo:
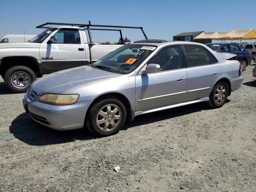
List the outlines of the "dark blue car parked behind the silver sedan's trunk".
{"label": "dark blue car parked behind the silver sedan's trunk", "polygon": [[209,48],[215,52],[236,54],[237,60],[241,63],[243,70],[252,62],[252,53],[238,44],[232,43],[207,43]]}

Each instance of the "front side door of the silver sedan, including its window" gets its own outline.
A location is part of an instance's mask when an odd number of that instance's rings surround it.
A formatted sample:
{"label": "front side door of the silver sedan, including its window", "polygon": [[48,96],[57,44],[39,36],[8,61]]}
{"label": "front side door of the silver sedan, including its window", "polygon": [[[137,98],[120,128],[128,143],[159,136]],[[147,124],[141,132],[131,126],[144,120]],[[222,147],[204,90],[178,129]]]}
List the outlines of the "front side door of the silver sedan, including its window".
{"label": "front side door of the silver sedan, including its window", "polygon": [[147,64],[159,64],[160,72],[136,76],[136,112],[183,102],[187,73],[182,68],[180,46],[168,46]]}

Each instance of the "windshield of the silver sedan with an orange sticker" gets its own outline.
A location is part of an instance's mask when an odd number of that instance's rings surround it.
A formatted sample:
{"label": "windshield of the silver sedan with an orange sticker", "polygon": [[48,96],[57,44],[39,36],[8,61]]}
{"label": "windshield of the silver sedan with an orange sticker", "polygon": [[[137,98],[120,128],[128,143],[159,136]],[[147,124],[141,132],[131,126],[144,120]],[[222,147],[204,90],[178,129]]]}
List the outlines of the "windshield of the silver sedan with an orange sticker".
{"label": "windshield of the silver sedan with an orange sticker", "polygon": [[151,45],[124,45],[92,64],[92,67],[128,74],[136,69],[155,49],[156,46]]}

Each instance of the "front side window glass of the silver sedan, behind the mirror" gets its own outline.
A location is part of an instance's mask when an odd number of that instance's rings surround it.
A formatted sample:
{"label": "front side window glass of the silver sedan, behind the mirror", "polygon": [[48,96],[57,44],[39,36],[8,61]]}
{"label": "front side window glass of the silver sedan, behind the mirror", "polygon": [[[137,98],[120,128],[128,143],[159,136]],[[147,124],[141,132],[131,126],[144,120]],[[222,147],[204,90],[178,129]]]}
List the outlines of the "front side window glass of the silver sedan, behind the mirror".
{"label": "front side window glass of the silver sedan, behind the mirror", "polygon": [[160,50],[148,64],[159,64],[160,71],[182,68],[182,53],[180,46],[170,46]]}

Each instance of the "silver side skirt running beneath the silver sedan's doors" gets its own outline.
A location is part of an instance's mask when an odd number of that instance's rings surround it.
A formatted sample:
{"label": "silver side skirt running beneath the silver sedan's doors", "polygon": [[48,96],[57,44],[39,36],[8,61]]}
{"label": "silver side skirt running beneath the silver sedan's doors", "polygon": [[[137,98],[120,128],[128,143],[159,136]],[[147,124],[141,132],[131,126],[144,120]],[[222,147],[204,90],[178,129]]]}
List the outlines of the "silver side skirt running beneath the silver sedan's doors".
{"label": "silver side skirt running beneath the silver sedan's doors", "polygon": [[161,111],[161,110],[166,110],[166,109],[175,108],[175,107],[180,107],[180,106],[184,106],[184,105],[188,105],[188,104],[194,104],[194,103],[198,103],[198,102],[205,102],[205,101],[209,101],[209,97],[196,99],[196,100],[183,102],[183,103],[178,103],[178,104],[173,104],[173,105],[168,105],[168,106],[163,106],[163,107],[158,107],[158,108],[147,109],[147,110],[143,110],[143,111],[138,111],[138,112],[134,113],[134,116],[151,113],[151,112],[156,112],[156,111]]}

